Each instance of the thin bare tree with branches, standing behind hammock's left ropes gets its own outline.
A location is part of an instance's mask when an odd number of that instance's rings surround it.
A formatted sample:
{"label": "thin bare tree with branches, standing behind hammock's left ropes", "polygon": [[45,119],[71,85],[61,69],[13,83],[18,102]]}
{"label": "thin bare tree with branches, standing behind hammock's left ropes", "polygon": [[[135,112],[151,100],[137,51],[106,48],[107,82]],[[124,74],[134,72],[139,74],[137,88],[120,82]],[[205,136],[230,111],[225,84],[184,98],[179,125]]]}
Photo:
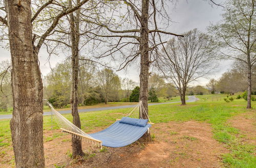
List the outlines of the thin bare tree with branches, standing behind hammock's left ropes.
{"label": "thin bare tree with branches, standing behind hammock's left ropes", "polygon": [[[80,3],[80,0],[68,1],[69,8],[72,8],[79,3]],[[87,65],[90,66],[93,63],[96,63],[96,61],[93,61],[88,57],[84,57],[80,55],[80,53],[83,48],[90,46],[90,41],[93,40],[93,38],[91,39],[87,38],[86,36],[87,32],[90,29],[96,30],[98,27],[100,27],[98,25],[94,27],[87,21],[82,22],[82,18],[96,17],[99,12],[103,12],[104,10],[103,11],[99,10],[99,9],[102,9],[100,8],[102,7],[101,4],[103,3],[101,3],[100,1],[99,2],[92,1],[88,3],[88,5],[84,6],[83,8],[70,13],[69,15],[67,15],[67,19],[65,19],[66,17],[63,18],[61,20],[61,23],[58,24],[58,26],[54,29],[51,36],[49,36],[46,39],[47,51],[49,53],[49,57],[51,57],[53,53],[57,54],[56,50],[58,50],[58,48],[61,48],[65,51],[67,50],[68,52],[70,50],[72,51],[72,54],[71,54],[72,79],[71,79],[70,104],[72,109],[73,123],[79,128],[81,127],[80,117],[78,114],[79,74],[81,77],[81,72],[79,73],[79,67],[84,68]],[[67,26],[68,24],[70,24],[70,26]],[[94,44],[91,44],[91,45],[94,45]],[[79,65],[79,61],[82,61],[82,65]],[[82,84],[83,81],[81,81],[80,83]],[[80,86],[84,87],[84,85],[80,85]],[[83,88],[83,89],[87,89],[87,88]],[[82,95],[84,96],[85,94],[82,94]],[[76,138],[76,136],[72,137],[72,149],[73,149],[73,157],[83,155],[81,140],[79,138]]]}

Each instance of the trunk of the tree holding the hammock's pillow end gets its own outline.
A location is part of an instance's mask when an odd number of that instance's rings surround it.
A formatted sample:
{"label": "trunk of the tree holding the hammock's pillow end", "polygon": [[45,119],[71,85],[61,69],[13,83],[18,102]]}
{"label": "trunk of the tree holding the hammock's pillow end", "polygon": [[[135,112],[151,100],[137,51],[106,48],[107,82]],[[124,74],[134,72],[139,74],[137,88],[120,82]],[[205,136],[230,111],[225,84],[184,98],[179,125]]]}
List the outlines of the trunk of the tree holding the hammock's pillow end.
{"label": "trunk of the tree holding the hammock's pillow end", "polygon": [[[148,8],[149,1],[142,0],[141,12],[141,29],[140,29],[140,96],[142,104],[148,114],[147,97],[148,97],[148,70],[150,68],[150,61],[148,58]],[[148,119],[147,115],[142,114],[143,119]],[[152,141],[150,133],[145,133],[141,138],[143,142]]]}

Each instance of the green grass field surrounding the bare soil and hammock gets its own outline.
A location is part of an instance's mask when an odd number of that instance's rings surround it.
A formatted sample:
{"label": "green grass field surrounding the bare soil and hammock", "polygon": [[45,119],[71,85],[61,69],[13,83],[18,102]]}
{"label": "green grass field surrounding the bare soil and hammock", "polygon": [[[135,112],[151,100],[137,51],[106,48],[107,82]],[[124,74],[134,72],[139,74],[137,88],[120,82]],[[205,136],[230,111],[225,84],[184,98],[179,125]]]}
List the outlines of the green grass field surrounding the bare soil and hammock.
{"label": "green grass field surrounding the bare soil and hammock", "polygon": [[[209,123],[212,127],[214,137],[230,152],[222,155],[222,162],[229,167],[255,167],[256,158],[255,146],[243,142],[243,135],[240,130],[232,127],[227,120],[233,116],[253,112],[255,117],[256,102],[252,102],[253,109],[247,110],[246,101],[243,99],[235,99],[233,102],[226,103],[223,98],[226,95],[201,95],[197,96],[199,101],[188,103],[180,106],[180,103],[162,104],[149,106],[151,121],[154,123],[168,123],[170,121],[185,122],[199,121]],[[233,96],[234,98],[236,95]],[[120,117],[120,113],[124,113],[127,109],[115,109],[95,111],[90,113],[81,113],[81,128],[85,132],[106,127],[112,124],[116,118]],[[71,121],[70,114],[63,115]],[[0,120],[0,159],[4,157],[11,146],[11,133],[9,120]],[[57,129],[57,125],[53,123],[53,129]],[[44,130],[51,130],[51,117],[44,117]],[[51,137],[44,137],[44,141],[58,138],[61,134]],[[255,141],[255,139],[253,139]],[[10,161],[13,164],[14,160]]]}

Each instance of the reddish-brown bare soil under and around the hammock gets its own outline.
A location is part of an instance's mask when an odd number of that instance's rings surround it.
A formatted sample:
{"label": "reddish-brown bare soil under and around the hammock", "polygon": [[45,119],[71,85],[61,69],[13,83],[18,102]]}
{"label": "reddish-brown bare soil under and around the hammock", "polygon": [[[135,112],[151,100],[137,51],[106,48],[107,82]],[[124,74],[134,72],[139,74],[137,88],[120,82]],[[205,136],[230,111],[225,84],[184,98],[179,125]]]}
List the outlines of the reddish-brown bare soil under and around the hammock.
{"label": "reddish-brown bare soil under and around the hammock", "polygon": [[[99,131],[94,130],[93,132]],[[49,137],[61,131],[45,131]],[[209,124],[195,121],[155,124],[154,141],[136,142],[122,148],[99,150],[83,141],[82,158],[71,159],[71,135],[65,134],[44,143],[46,167],[221,167],[221,154],[228,150],[212,138]],[[12,159],[13,153],[5,155]],[[11,167],[10,164],[2,164]]]}

